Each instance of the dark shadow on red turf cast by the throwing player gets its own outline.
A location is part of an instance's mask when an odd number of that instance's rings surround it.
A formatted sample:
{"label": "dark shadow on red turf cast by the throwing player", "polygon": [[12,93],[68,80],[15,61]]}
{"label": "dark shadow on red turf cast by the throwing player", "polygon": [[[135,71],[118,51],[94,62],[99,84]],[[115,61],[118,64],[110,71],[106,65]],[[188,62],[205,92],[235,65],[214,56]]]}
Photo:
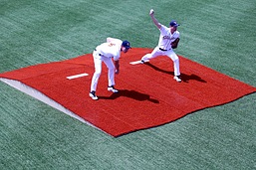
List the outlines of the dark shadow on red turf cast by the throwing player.
{"label": "dark shadow on red turf cast by the throwing player", "polygon": [[[172,75],[172,76],[174,75],[174,72],[164,71],[164,70],[162,70],[162,69],[160,69],[160,68],[158,68],[156,66],[153,66],[150,63],[145,63],[144,65],[149,66],[150,68],[152,68],[155,71],[158,71],[158,72],[161,72],[161,73],[164,73],[164,74],[168,74],[168,75]],[[188,83],[191,80],[198,81],[198,82],[201,82],[201,83],[207,83],[206,81],[202,80],[200,77],[198,77],[198,76],[196,76],[194,74],[186,75],[186,74],[182,74],[181,73],[181,80],[184,83]]]}

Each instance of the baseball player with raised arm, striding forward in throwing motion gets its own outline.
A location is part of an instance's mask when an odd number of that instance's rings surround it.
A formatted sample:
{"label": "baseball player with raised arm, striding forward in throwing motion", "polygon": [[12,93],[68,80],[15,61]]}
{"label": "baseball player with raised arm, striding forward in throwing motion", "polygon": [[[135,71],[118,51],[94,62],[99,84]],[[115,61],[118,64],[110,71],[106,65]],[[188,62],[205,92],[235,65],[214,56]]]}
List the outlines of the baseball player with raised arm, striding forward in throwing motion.
{"label": "baseball player with raised arm, striding forward in throwing motion", "polygon": [[177,27],[179,24],[175,20],[172,20],[169,23],[169,28],[164,25],[161,25],[154,17],[153,9],[150,10],[149,15],[151,17],[154,25],[159,29],[160,36],[158,41],[158,46],[150,54],[146,54],[141,58],[141,63],[155,58],[157,56],[167,56],[169,57],[174,64],[174,80],[178,83],[181,82],[180,72],[179,72],[179,59],[177,55],[173,52],[173,49],[177,48],[179,42],[179,32]]}

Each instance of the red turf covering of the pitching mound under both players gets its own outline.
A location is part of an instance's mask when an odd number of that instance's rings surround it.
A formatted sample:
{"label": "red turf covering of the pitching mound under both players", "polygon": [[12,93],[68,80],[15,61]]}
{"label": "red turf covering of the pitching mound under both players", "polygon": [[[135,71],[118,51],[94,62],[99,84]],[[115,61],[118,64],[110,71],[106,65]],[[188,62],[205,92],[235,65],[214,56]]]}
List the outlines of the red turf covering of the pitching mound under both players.
{"label": "red turf covering of the pitching mound under both players", "polygon": [[[0,78],[38,89],[113,136],[168,123],[256,91],[254,86],[183,57],[180,57],[182,83],[172,79],[172,61],[167,57],[158,57],[144,65],[129,64],[149,52],[151,49],[132,48],[128,54],[122,54],[121,73],[116,76],[119,93],[107,90],[104,65],[97,90],[99,100],[88,95],[94,73],[91,54],[3,73]],[[89,76],[67,79],[83,73]]]}

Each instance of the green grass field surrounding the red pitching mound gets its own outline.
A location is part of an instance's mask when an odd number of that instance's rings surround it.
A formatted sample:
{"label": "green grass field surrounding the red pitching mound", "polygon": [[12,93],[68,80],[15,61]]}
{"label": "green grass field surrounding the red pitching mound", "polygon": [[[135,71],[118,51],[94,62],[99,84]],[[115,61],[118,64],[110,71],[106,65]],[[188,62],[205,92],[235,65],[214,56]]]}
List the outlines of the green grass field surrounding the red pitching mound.
{"label": "green grass field surrounding the red pitching mound", "polygon": [[[150,8],[180,23],[178,55],[256,86],[255,0],[1,0],[0,73],[90,54],[109,36],[154,48]],[[118,138],[3,83],[0,101],[0,169],[256,169],[256,93]]]}

